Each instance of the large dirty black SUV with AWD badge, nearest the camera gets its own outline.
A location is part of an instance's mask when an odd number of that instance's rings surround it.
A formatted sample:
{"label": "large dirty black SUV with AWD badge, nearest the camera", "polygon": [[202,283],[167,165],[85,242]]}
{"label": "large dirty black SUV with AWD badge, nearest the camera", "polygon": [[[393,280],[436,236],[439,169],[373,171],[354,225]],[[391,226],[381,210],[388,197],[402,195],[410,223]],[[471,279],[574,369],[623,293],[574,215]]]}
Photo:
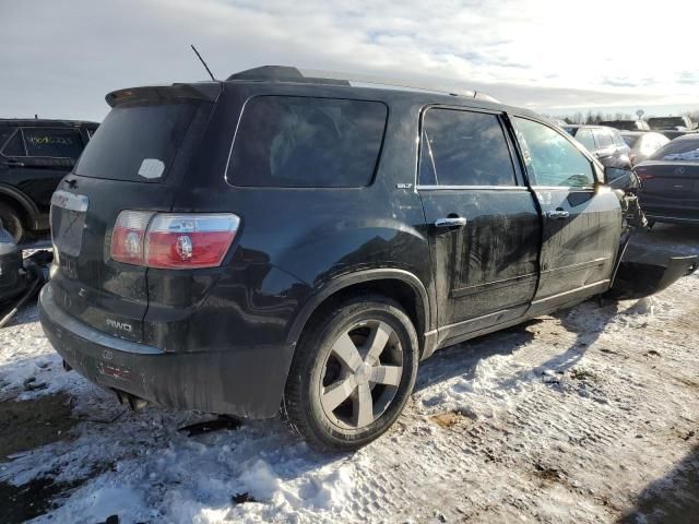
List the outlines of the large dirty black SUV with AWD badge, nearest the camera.
{"label": "large dirty black SUV with AWD badge, nearest the camera", "polygon": [[618,194],[531,111],[294,68],[106,98],[39,311],[134,406],[281,409],[353,449],[436,349],[609,289]]}

